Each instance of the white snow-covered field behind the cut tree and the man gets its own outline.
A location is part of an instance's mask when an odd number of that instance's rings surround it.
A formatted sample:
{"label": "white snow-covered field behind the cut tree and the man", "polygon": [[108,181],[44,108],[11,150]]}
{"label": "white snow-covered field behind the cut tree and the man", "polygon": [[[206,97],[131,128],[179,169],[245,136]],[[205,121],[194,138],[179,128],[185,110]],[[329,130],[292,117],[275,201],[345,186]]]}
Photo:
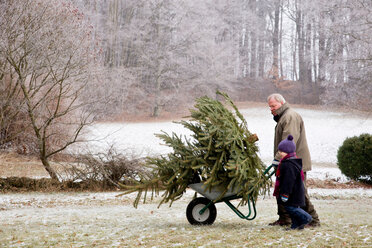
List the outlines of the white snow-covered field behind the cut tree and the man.
{"label": "white snow-covered field behind the cut tree and the man", "polygon": [[[368,115],[356,115],[350,112],[335,112],[295,108],[305,122],[307,140],[313,161],[313,170],[309,178],[335,179],[347,181],[338,169],[337,150],[347,137],[362,133],[372,133],[372,118]],[[273,139],[275,122],[269,108],[254,107],[240,109],[248,123],[248,129],[259,137],[258,146],[261,159],[270,164],[273,154]],[[188,137],[189,130],[182,125],[168,122],[145,123],[100,123],[91,128],[91,142],[94,149],[105,149],[115,144],[116,147],[131,151],[141,156],[164,154],[171,151],[162,145],[155,133],[161,131],[171,134],[184,134]]]}

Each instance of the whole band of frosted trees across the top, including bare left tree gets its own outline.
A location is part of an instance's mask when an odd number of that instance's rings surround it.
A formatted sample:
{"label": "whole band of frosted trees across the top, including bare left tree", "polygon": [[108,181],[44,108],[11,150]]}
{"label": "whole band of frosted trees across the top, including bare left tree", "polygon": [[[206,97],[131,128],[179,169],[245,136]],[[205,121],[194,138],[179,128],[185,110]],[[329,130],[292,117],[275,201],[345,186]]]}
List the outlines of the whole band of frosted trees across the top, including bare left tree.
{"label": "whole band of frosted trees across the top, including bare left tree", "polygon": [[0,0],[0,148],[51,157],[86,125],[202,95],[372,106],[367,0]]}

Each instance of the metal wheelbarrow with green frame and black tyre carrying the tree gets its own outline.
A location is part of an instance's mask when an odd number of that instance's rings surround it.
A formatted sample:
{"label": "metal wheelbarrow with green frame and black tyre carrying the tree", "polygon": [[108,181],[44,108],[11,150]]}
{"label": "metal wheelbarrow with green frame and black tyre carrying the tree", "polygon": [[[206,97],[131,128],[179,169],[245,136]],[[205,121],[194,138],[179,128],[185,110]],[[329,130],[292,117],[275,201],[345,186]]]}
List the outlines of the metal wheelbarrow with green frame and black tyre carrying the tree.
{"label": "metal wheelbarrow with green frame and black tyre carrying the tree", "polygon": [[[270,165],[264,171],[264,175],[270,178],[275,173],[275,167]],[[211,225],[216,220],[217,209],[215,204],[224,202],[230,207],[234,213],[240,218],[245,220],[253,220],[256,218],[256,203],[252,195],[248,195],[248,214],[243,214],[235,205],[230,201],[239,199],[239,189],[229,189],[221,198],[221,193],[224,191],[220,187],[212,187],[212,189],[206,189],[204,183],[190,184],[189,187],[201,194],[203,197],[194,198],[186,208],[186,217],[191,225]],[[217,200],[219,199],[219,200]]]}

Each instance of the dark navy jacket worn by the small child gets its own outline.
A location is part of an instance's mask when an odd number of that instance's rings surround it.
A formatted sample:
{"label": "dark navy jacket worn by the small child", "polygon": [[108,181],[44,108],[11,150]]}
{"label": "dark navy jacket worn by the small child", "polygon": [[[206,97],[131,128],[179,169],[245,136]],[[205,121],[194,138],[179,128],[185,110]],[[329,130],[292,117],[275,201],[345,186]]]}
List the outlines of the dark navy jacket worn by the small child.
{"label": "dark navy jacket worn by the small child", "polygon": [[280,165],[279,193],[288,196],[288,201],[283,205],[302,207],[305,206],[305,187],[301,177],[302,160],[300,158],[288,158]]}

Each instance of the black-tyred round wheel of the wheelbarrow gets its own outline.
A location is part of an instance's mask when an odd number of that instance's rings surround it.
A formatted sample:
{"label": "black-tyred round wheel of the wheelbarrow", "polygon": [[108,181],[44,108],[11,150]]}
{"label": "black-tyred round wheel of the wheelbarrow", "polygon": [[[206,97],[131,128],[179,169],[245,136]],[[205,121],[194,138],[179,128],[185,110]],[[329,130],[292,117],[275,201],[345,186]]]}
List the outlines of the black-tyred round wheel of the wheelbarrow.
{"label": "black-tyred round wheel of the wheelbarrow", "polygon": [[198,197],[192,200],[186,209],[186,217],[191,225],[211,225],[216,220],[217,209],[212,203],[202,214],[202,210],[211,201],[204,197]]}

